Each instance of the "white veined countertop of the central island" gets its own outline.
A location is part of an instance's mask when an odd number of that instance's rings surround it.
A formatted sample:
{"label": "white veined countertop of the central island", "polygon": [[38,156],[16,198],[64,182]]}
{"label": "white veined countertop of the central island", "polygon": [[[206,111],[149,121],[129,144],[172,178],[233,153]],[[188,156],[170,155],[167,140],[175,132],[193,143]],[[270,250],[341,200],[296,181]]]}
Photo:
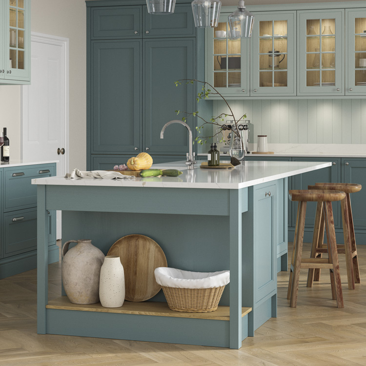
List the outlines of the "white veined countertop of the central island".
{"label": "white veined countertop of the central island", "polygon": [[322,169],[331,162],[245,162],[231,169],[203,169],[197,162],[195,169],[187,170],[184,162],[154,164],[152,168],[179,169],[178,177],[148,177],[126,180],[70,179],[45,177],[32,180],[32,184],[113,186],[113,187],[165,187],[165,188],[222,188],[240,189],[252,185]]}

